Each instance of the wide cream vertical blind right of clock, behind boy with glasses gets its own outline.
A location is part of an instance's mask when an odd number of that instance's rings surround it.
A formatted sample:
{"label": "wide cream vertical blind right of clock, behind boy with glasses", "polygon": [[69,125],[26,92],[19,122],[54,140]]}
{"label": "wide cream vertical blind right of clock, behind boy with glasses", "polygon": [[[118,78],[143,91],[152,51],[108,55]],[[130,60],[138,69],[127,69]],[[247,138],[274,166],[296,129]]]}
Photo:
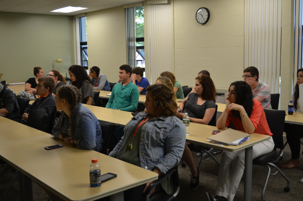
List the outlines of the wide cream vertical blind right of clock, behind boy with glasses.
{"label": "wide cream vertical blind right of clock, behind boy with glasses", "polygon": [[245,0],[244,68],[255,66],[271,94],[279,93],[282,0]]}

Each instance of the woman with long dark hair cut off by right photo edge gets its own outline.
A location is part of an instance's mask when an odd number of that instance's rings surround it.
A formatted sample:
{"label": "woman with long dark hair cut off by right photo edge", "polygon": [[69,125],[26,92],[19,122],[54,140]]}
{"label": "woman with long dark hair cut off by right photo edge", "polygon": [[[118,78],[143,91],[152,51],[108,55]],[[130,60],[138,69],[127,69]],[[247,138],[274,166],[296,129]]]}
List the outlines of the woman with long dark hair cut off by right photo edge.
{"label": "woman with long dark hair cut off by right photo edge", "polygon": [[[303,113],[303,69],[299,69],[297,72],[297,83],[294,87],[294,92],[291,97],[294,103],[294,112]],[[300,166],[300,138],[302,135],[303,126],[298,124],[284,124],[284,132],[286,133],[286,139],[291,151],[291,159],[283,163],[281,168],[295,168]]]}

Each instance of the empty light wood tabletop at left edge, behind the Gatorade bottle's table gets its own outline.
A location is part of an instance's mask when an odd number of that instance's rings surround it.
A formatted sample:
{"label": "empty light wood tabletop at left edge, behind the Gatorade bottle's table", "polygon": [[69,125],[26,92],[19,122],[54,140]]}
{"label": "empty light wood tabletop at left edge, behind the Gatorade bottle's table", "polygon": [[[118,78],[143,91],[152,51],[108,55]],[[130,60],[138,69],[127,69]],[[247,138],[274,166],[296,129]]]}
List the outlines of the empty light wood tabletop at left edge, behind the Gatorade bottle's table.
{"label": "empty light wood tabletop at left edge, behind the Gatorade bottle's table", "polygon": [[50,136],[50,134],[36,130],[24,124],[0,117],[0,144]]}

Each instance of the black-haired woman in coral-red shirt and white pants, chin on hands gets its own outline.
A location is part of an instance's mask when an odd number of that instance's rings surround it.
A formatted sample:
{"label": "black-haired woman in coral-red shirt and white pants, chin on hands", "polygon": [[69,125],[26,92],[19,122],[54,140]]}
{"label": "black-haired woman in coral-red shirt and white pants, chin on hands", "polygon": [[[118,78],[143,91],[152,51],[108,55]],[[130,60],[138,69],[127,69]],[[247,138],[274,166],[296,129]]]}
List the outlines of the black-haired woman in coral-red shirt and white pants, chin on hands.
{"label": "black-haired woman in coral-red shirt and white pants, chin on hands", "polygon": [[[231,83],[226,98],[227,106],[217,120],[217,128],[223,129],[231,120],[238,131],[271,136],[262,104],[253,99],[251,87],[243,81]],[[274,149],[272,137],[268,141],[253,146],[252,158],[268,154]],[[208,201],[232,201],[244,170],[245,150],[237,152],[223,151],[217,179],[216,196],[206,193]]]}

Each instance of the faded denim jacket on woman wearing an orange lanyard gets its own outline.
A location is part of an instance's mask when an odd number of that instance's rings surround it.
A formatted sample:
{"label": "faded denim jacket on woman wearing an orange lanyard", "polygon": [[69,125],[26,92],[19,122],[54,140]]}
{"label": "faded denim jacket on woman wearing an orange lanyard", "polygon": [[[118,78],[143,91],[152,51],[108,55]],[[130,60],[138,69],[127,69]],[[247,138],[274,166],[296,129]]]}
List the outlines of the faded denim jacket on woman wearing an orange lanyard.
{"label": "faded denim jacket on woman wearing an orange lanyard", "polygon": [[[109,156],[117,157],[133,127],[149,114],[139,113],[124,128],[124,136]],[[139,145],[141,167],[153,170],[156,167],[165,174],[175,167],[183,154],[186,139],[185,125],[177,117],[153,118],[145,123]]]}

